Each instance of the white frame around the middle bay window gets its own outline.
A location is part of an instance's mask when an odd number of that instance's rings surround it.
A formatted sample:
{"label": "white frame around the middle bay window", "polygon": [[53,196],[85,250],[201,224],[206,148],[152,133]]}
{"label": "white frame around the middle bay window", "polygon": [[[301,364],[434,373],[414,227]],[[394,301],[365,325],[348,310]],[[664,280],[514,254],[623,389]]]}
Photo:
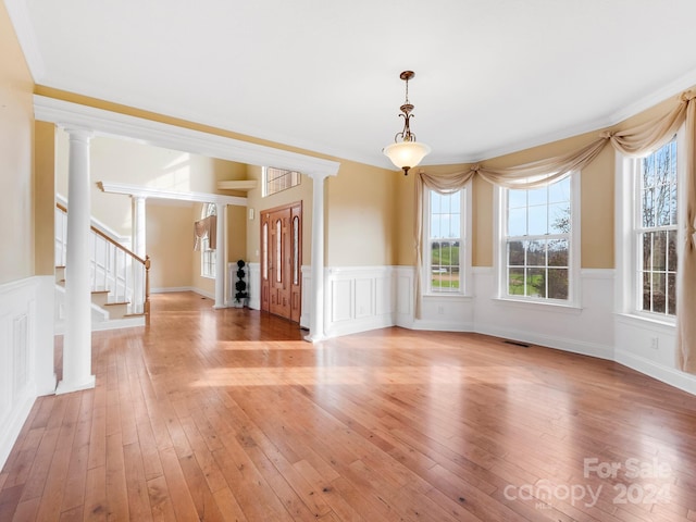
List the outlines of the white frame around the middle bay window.
{"label": "white frame around the middle bay window", "polygon": [[495,201],[495,237],[494,241],[494,262],[496,273],[496,298],[501,301],[520,302],[530,304],[542,304],[561,308],[580,308],[580,256],[581,256],[581,198],[580,198],[580,172],[572,171],[570,176],[570,220],[571,228],[568,235],[568,299],[551,299],[546,297],[532,296],[510,296],[508,295],[508,274],[507,274],[507,210],[508,210],[508,189],[496,185],[494,188]]}

